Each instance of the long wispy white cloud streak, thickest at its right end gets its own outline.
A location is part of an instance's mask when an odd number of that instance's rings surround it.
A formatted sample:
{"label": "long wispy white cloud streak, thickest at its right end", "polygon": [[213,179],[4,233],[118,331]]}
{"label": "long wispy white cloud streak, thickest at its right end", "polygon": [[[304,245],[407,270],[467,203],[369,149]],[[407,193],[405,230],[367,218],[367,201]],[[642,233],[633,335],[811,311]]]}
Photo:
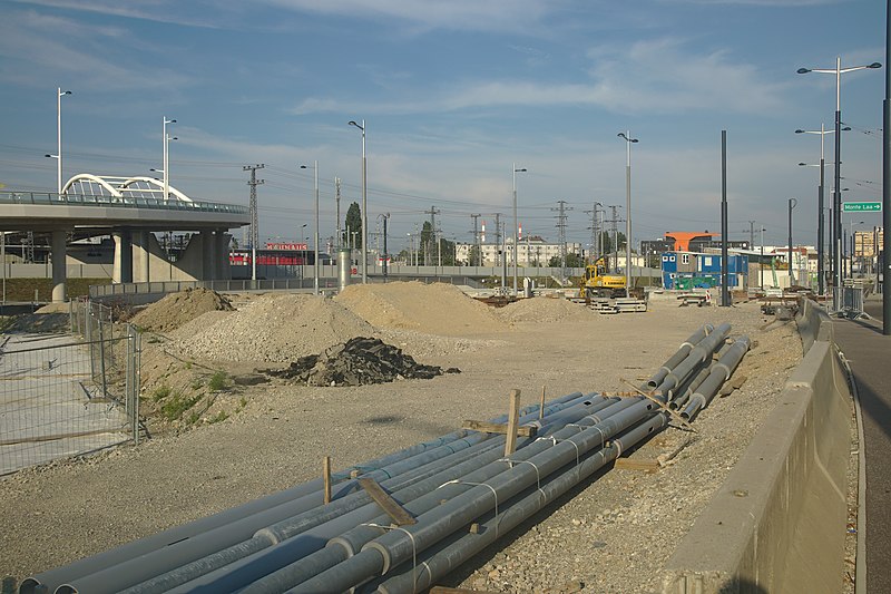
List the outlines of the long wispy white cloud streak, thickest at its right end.
{"label": "long wispy white cloud streak, thickest at its right end", "polygon": [[427,91],[394,103],[313,97],[292,111],[407,115],[503,106],[589,105],[623,114],[689,110],[756,114],[780,109],[782,95],[791,85],[762,79],[754,66],[734,62],[725,51],[686,51],[684,42],[673,38],[638,41],[623,49],[595,48],[588,57],[593,62],[589,79],[579,82],[471,80],[450,82],[447,91]]}

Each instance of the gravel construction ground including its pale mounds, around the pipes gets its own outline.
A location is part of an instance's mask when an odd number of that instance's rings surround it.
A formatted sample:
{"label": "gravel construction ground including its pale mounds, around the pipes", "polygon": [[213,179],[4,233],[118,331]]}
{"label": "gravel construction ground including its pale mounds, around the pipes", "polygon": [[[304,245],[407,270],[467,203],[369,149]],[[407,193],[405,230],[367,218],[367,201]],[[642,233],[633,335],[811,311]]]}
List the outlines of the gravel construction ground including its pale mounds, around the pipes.
{"label": "gravel construction ground including its pale mounds, around the pipes", "polygon": [[[342,468],[464,419],[496,417],[515,388],[523,405],[538,402],[542,388],[548,399],[633,391],[699,325],[726,321],[732,335],[753,341],[736,371],[745,381],[715,398],[695,432],[668,428],[630,452],[639,464],[584,484],[443,582],[495,592],[658,592],[665,562],[802,357],[794,322],[774,321],[757,302],[681,308],[665,298],[646,312],[600,315],[546,298],[493,309],[453,286],[420,283],[352,286],[335,299],[225,296],[233,311],[194,292],[133,319],[144,329],[151,439],[0,478],[0,577],[20,581],[315,478],[324,456]],[[358,335],[461,372],[344,388],[257,372]],[[225,381],[212,390],[215,376]],[[164,392],[202,398],[170,418]]]}

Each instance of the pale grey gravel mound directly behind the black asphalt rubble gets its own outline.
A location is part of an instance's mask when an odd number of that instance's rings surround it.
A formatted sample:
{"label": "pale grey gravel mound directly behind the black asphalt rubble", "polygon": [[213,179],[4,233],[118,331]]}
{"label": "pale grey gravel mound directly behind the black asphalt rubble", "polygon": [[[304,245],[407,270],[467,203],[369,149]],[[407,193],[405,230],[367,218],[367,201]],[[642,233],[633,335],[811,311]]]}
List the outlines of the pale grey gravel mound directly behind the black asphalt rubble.
{"label": "pale grey gravel mound directly behind the black asphalt rubble", "polygon": [[215,361],[286,363],[373,332],[330,299],[267,294],[231,313],[205,313],[176,332],[175,348]]}

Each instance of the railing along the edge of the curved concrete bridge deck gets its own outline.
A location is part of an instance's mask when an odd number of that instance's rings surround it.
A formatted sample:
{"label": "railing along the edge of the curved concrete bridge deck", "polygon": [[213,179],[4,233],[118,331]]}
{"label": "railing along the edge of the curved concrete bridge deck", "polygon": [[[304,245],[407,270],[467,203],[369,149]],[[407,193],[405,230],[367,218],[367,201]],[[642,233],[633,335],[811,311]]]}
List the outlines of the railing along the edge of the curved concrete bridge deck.
{"label": "railing along the edge of the curved concrete bridge deck", "polygon": [[87,194],[56,194],[48,192],[0,192],[0,204],[32,204],[40,206],[101,206],[111,208],[154,208],[163,211],[193,211],[208,213],[246,214],[247,206],[218,202],[185,202],[179,199],[145,198],[136,196],[99,196]]}

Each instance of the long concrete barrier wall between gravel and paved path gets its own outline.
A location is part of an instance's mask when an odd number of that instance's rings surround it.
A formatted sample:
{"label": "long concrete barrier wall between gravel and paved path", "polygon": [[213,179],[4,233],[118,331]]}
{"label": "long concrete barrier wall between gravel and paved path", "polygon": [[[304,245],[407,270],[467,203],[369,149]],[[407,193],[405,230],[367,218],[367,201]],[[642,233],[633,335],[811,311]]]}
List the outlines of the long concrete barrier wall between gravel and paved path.
{"label": "long concrete barrier wall between gravel and paved path", "polygon": [[665,593],[842,590],[851,393],[832,324],[807,303],[802,318],[815,339],[666,563]]}

